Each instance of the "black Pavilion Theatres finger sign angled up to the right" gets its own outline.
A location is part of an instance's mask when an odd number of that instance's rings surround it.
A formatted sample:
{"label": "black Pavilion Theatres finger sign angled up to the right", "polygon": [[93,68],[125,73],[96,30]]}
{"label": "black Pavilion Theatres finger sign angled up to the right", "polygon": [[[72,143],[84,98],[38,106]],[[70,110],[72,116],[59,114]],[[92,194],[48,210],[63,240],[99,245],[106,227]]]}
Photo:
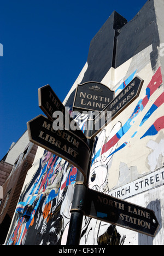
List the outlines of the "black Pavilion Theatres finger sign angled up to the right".
{"label": "black Pavilion Theatres finger sign angled up to the right", "polygon": [[[124,90],[116,96],[106,108],[103,109],[99,115],[93,120],[93,129],[91,131],[91,138],[94,138],[99,131],[104,129],[110,121],[117,117],[122,110],[124,110],[129,104],[131,104],[139,96],[140,90],[143,85],[143,80],[139,77],[135,77],[130,84],[128,84]],[[110,113],[110,115],[109,115]],[[110,118],[108,118],[108,116]],[[101,126],[101,118],[104,119],[103,126]],[[87,120],[89,122],[89,120]],[[100,127],[98,130],[96,127]]]}

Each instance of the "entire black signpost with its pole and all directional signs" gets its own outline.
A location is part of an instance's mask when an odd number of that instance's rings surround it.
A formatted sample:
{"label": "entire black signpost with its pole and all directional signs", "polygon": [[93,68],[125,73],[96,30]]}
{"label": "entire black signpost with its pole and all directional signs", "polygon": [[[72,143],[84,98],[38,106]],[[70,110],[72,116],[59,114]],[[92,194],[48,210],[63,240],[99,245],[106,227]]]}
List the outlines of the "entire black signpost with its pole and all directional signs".
{"label": "entire black signpost with its pole and all directional signs", "polygon": [[[78,168],[72,201],[67,245],[79,245],[83,216],[96,218],[107,223],[122,226],[149,236],[155,236],[159,223],[153,211],[88,188],[92,151],[95,136],[138,96],[143,80],[135,77],[118,96],[107,86],[88,82],[77,86],[73,109],[97,111],[95,119],[87,120],[86,127],[92,129],[83,133],[58,99],[50,85],[39,88],[39,107],[43,115],[28,121],[30,141],[60,156]],[[62,113],[62,127],[54,129],[54,113]],[[109,113],[111,113],[109,118]],[[101,118],[105,120],[103,125]],[[69,127],[76,126],[76,130]],[[99,127],[99,129],[96,129]]]}

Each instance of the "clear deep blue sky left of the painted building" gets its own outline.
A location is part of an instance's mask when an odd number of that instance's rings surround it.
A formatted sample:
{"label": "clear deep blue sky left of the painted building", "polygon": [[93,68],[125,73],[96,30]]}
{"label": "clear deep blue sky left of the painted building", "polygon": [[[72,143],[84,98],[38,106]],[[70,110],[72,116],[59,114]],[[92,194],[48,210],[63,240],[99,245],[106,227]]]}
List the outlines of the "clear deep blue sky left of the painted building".
{"label": "clear deep blue sky left of the painted building", "polygon": [[84,67],[91,39],[114,10],[130,21],[147,0],[1,1],[0,160],[42,113],[38,88],[63,101]]}

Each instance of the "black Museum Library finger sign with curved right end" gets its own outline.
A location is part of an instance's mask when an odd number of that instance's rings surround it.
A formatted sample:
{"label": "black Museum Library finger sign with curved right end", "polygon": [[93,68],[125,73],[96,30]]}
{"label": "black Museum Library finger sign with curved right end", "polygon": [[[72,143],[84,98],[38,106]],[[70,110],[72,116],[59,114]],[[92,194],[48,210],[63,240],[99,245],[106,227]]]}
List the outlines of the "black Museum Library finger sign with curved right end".
{"label": "black Museum Library finger sign with curved right end", "polygon": [[60,156],[83,173],[85,181],[90,149],[87,144],[71,131],[54,130],[53,122],[43,115],[28,121],[28,136],[31,142]]}

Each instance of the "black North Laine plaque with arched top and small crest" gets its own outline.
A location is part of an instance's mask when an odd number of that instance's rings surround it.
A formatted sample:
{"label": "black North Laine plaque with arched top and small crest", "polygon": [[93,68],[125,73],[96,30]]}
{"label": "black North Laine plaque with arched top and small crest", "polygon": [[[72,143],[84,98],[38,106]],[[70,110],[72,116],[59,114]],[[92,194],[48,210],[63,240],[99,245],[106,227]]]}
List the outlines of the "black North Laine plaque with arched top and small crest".
{"label": "black North Laine plaque with arched top and small crest", "polygon": [[101,112],[114,98],[114,91],[97,82],[78,84],[75,92],[73,110]]}

